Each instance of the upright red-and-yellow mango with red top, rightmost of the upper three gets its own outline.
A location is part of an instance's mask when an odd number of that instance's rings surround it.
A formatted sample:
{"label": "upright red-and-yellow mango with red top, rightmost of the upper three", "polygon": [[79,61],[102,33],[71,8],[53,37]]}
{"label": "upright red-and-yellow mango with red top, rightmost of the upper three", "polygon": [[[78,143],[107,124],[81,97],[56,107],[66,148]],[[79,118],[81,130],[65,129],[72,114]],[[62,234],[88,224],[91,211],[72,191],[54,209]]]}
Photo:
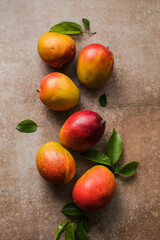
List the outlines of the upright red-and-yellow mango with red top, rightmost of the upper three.
{"label": "upright red-and-yellow mango with red top, rightmost of the upper three", "polygon": [[79,54],[78,78],[88,88],[101,87],[111,77],[113,66],[114,58],[109,49],[101,44],[90,44]]}

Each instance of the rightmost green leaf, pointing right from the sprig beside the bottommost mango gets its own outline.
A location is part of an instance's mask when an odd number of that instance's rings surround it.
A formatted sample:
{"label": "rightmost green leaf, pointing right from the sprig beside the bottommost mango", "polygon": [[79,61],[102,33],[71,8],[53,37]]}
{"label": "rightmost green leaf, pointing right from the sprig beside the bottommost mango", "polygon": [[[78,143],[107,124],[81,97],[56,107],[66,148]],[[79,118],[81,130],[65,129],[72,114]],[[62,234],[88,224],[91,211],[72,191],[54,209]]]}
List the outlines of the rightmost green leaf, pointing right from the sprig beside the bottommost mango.
{"label": "rightmost green leaf, pointing right from the sprig beside the bottommost mango", "polygon": [[123,177],[132,176],[136,172],[138,165],[139,162],[127,163],[124,167],[121,168],[118,174]]}

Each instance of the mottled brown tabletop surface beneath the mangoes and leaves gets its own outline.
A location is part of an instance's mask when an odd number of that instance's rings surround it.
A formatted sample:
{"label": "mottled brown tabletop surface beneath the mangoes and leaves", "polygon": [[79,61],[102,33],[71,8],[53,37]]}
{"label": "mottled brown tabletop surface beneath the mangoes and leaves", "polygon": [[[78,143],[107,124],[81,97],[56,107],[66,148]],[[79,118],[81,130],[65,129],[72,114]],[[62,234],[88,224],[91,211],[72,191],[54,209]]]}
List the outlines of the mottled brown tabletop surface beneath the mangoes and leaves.
{"label": "mottled brown tabletop surface beneath the mangoes and leaves", "polygon": [[[0,239],[49,240],[65,216],[60,209],[71,201],[78,177],[93,164],[73,155],[74,180],[54,187],[43,180],[35,155],[48,141],[58,141],[61,125],[79,109],[97,111],[107,122],[96,148],[104,150],[112,128],[123,140],[123,163],[140,161],[137,174],[117,179],[113,201],[90,214],[91,240],[158,240],[160,156],[160,1],[159,0],[1,0],[0,2]],[[41,34],[62,21],[87,17],[94,36],[74,37],[76,58],[63,72],[80,87],[81,103],[71,111],[56,113],[40,102],[35,89],[53,69],[37,54]],[[76,76],[76,60],[87,44],[108,45],[115,57],[110,81],[88,90]],[[98,98],[108,96],[101,108]],[[33,134],[15,130],[30,118],[42,127]],[[60,239],[64,239],[62,236]]]}

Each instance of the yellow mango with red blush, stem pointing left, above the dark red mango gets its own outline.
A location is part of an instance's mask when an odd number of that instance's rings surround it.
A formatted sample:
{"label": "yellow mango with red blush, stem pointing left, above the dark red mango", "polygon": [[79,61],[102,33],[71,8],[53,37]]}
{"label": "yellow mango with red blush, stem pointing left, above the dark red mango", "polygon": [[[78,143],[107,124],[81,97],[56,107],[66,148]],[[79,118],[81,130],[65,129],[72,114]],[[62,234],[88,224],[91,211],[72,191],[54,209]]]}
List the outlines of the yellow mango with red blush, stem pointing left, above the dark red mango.
{"label": "yellow mango with red blush, stem pointing left, above the dark red mango", "polygon": [[41,101],[50,109],[65,111],[76,106],[80,92],[74,82],[63,73],[54,72],[44,77],[38,89]]}

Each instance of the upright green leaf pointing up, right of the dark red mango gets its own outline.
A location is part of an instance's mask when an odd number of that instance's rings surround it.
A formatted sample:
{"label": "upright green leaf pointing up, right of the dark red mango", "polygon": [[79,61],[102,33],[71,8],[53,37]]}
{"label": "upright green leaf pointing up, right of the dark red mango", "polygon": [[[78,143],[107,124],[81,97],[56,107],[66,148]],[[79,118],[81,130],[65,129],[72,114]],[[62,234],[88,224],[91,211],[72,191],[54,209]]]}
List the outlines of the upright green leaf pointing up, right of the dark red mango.
{"label": "upright green leaf pointing up, right of the dark red mango", "polygon": [[108,142],[108,157],[114,165],[122,153],[122,140],[116,130],[113,128],[113,134]]}

